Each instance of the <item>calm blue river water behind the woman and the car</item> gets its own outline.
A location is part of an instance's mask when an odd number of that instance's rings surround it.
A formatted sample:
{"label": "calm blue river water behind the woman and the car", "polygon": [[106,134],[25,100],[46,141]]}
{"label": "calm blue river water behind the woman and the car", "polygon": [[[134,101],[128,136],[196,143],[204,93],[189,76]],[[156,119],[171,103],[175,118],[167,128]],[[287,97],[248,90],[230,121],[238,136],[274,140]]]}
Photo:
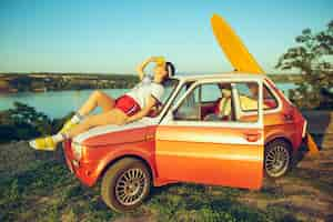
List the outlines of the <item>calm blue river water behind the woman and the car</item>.
{"label": "calm blue river water behind the woman and the car", "polygon": [[[286,95],[290,89],[294,89],[294,83],[276,84]],[[43,112],[51,118],[62,118],[71,111],[75,111],[89,98],[93,90],[70,90],[58,92],[20,92],[13,94],[0,94],[0,110],[13,108],[13,102],[23,102],[37,111]],[[108,89],[103,92],[113,98],[127,92],[128,89]],[[95,112],[99,112],[97,110]]]}

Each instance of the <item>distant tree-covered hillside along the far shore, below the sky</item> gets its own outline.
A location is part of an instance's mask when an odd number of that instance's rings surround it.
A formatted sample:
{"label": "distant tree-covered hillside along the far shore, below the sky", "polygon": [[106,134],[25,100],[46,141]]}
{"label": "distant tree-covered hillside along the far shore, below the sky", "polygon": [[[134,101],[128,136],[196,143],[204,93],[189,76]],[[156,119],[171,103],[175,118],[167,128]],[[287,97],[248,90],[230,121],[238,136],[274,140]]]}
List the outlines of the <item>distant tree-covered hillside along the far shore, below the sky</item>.
{"label": "distant tree-covered hillside along the far shore, below the sky", "polygon": [[[300,82],[300,74],[269,74],[275,82]],[[132,88],[134,74],[0,73],[0,92]]]}

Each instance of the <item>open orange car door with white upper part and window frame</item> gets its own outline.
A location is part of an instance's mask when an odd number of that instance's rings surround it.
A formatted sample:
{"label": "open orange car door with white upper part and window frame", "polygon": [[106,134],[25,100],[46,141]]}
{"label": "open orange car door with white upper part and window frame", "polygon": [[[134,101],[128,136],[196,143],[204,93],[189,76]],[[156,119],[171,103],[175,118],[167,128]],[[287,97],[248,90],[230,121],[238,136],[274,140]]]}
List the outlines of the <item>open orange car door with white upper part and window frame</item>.
{"label": "open orange car door with white upper part and window frame", "polygon": [[[255,121],[244,122],[236,118],[221,120],[218,117],[213,121],[205,121],[200,113],[202,85],[219,82],[196,82],[191,85],[158,127],[155,160],[159,176],[259,189],[263,178],[262,102],[258,102]],[[230,83],[248,84],[242,80]],[[262,101],[262,82],[255,83],[260,92],[258,101]],[[232,99],[239,98],[233,95]]]}

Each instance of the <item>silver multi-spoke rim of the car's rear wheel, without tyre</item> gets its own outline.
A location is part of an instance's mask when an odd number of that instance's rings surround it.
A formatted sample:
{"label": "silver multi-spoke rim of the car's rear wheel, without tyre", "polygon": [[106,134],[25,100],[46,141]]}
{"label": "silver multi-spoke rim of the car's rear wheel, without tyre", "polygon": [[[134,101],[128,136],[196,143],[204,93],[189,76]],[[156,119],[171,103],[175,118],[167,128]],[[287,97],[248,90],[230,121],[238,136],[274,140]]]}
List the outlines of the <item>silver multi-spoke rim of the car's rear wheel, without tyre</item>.
{"label": "silver multi-spoke rim of the car's rear wheel, without tyre", "polygon": [[290,157],[287,150],[282,145],[276,145],[266,153],[266,172],[272,176],[279,176],[287,169]]}

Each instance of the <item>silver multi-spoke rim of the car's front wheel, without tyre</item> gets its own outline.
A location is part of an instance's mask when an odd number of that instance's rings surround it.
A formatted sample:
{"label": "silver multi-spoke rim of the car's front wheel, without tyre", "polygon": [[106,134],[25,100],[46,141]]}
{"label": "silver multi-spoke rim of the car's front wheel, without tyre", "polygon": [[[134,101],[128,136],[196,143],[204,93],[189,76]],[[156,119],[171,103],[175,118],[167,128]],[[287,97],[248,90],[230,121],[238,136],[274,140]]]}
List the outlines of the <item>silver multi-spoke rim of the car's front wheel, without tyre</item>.
{"label": "silver multi-spoke rim of the car's front wheel, without tyre", "polygon": [[129,169],[117,180],[115,198],[123,205],[138,203],[148,189],[148,178],[141,169]]}

